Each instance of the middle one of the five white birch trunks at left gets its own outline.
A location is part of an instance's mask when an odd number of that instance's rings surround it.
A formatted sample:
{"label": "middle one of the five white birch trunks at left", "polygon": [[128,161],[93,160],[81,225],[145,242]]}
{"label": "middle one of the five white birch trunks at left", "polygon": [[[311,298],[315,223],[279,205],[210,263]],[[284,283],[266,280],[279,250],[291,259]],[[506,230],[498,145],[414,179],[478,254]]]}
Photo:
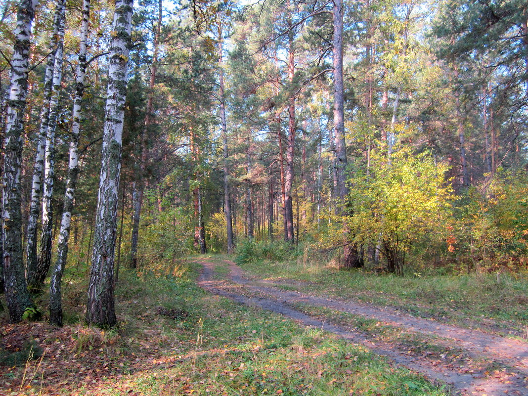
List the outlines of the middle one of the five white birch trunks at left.
{"label": "middle one of the five white birch trunks at left", "polygon": [[55,174],[55,129],[59,116],[59,96],[62,80],[62,62],[64,55],[64,25],[66,19],[66,4],[57,3],[59,17],[57,19],[57,46],[53,64],[53,83],[51,86],[50,112],[48,131],[46,131],[46,149],[44,154],[44,188],[42,196],[42,234],[40,242],[39,261],[35,277],[29,282],[30,288],[40,288],[51,266],[51,249],[53,244],[53,179]]}

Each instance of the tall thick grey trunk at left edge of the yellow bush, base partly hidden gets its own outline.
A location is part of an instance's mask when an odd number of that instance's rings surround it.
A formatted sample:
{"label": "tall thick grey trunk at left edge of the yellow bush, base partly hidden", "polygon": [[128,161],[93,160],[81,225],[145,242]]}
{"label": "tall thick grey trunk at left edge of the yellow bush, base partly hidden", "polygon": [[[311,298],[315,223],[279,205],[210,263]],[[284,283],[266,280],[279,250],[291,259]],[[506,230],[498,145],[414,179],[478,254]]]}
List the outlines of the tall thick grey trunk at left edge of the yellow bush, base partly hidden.
{"label": "tall thick grey trunk at left edge of the yellow bush, base partly hidden", "polygon": [[[333,37],[333,65],[334,65],[334,139],[336,157],[337,192],[341,201],[346,199],[348,187],[346,185],[345,123],[344,123],[344,88],[343,88],[343,2],[334,0],[334,37]],[[346,219],[343,222],[343,233],[350,234]],[[344,247],[343,266],[345,268],[359,268],[363,266],[354,242],[348,241]]]}

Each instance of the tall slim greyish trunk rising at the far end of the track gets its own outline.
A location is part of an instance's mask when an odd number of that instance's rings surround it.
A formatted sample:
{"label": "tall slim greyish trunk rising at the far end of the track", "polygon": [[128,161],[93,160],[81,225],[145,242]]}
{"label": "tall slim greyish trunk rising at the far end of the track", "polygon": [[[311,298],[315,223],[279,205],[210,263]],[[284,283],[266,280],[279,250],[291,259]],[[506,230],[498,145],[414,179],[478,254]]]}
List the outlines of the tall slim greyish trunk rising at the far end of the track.
{"label": "tall slim greyish trunk rising at the far end of the track", "polygon": [[228,127],[225,121],[225,93],[224,93],[224,70],[223,70],[223,40],[222,29],[219,29],[219,51],[218,51],[218,67],[219,67],[219,83],[220,83],[220,122],[222,124],[222,143],[224,154],[224,214],[227,231],[228,253],[234,251],[233,243],[233,219],[231,217],[231,197],[229,195],[229,153],[228,153]]}

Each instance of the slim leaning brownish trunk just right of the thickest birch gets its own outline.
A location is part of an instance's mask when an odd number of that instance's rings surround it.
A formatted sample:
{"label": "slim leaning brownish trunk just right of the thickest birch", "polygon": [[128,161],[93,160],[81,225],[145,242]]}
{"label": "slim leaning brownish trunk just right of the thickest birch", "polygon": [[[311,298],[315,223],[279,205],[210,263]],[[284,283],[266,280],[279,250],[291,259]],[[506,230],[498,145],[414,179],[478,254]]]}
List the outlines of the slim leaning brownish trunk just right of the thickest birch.
{"label": "slim leaning brownish trunk just right of the thickest birch", "polygon": [[149,79],[149,92],[147,98],[147,108],[145,115],[145,123],[143,126],[143,140],[142,140],[142,152],[141,152],[141,162],[139,164],[139,182],[136,183],[137,191],[134,201],[134,222],[132,227],[132,241],[130,247],[130,256],[131,256],[131,267],[137,267],[137,241],[139,235],[139,221],[141,219],[141,206],[143,203],[143,191],[145,190],[144,179],[146,176],[146,167],[148,159],[148,137],[150,131],[150,125],[153,121],[152,107],[154,102],[154,85],[156,83],[156,73],[158,68],[158,51],[159,51],[159,35],[162,29],[163,22],[163,0],[158,0],[158,21],[156,25],[156,32],[154,33],[154,43],[153,43],[153,57],[152,65],[150,67],[150,79]]}

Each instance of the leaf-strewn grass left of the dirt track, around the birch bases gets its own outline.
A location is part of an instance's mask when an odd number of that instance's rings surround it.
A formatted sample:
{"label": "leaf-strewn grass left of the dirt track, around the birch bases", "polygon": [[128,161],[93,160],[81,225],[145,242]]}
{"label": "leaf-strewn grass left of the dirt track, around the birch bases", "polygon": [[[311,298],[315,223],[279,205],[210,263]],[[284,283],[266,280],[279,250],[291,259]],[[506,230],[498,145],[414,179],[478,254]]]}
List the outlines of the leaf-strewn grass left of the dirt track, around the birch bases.
{"label": "leaf-strewn grass left of the dirt track, around the birch bases", "polygon": [[[213,296],[196,286],[199,271],[193,262],[176,275],[173,269],[167,275],[122,271],[116,290],[120,324],[112,331],[79,323],[73,306],[64,328],[4,320],[4,340],[39,335],[35,341],[47,351],[42,364],[26,365],[32,380],[20,394],[449,394],[362,346]],[[70,289],[65,301],[76,293]],[[185,315],[173,315],[182,305]],[[1,388],[18,391],[21,370],[0,370]]]}

